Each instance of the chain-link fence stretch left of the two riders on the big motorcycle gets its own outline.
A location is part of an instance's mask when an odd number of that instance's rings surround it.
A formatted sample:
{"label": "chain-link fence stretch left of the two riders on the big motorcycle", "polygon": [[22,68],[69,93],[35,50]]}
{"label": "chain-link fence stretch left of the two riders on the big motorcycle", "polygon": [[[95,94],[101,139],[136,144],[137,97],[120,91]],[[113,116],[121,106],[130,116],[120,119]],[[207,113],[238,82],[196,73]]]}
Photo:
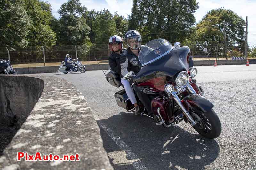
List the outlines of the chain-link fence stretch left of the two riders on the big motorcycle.
{"label": "chain-link fence stretch left of the two riders on the big motorcycle", "polygon": [[27,63],[46,63],[64,61],[66,54],[71,58],[79,61],[98,61],[108,60],[109,49],[108,45],[98,45],[97,47],[87,46],[41,46],[41,47],[26,47],[26,48],[6,48],[0,47],[0,59],[8,60],[8,50],[12,64],[27,64]]}

